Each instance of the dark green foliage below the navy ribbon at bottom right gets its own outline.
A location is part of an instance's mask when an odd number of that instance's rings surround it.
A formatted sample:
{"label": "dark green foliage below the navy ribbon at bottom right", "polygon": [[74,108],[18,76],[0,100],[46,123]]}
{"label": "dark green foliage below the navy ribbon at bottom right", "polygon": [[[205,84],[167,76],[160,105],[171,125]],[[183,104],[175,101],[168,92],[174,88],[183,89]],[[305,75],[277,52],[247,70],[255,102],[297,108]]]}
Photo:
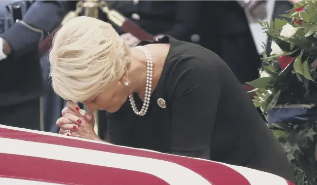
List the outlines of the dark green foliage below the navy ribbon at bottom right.
{"label": "dark green foliage below the navy ribbon at bottom right", "polygon": [[295,168],[295,184],[317,184],[317,122],[274,123],[270,129]]}

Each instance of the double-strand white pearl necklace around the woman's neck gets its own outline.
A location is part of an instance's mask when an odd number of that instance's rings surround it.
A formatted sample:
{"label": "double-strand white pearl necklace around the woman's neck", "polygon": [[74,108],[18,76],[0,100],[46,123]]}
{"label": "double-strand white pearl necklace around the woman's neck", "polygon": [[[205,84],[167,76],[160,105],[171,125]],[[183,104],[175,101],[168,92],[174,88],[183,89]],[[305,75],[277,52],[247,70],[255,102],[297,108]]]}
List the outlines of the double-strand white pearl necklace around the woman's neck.
{"label": "double-strand white pearl necklace around the woman's neck", "polygon": [[147,113],[150,99],[151,99],[151,93],[152,93],[152,80],[153,80],[153,60],[149,53],[149,51],[144,46],[137,46],[135,47],[142,51],[146,58],[146,87],[145,87],[145,94],[144,94],[144,100],[143,105],[140,111],[138,111],[138,108],[135,104],[133,94],[129,95],[131,107],[133,109],[133,112],[138,116],[144,116]]}

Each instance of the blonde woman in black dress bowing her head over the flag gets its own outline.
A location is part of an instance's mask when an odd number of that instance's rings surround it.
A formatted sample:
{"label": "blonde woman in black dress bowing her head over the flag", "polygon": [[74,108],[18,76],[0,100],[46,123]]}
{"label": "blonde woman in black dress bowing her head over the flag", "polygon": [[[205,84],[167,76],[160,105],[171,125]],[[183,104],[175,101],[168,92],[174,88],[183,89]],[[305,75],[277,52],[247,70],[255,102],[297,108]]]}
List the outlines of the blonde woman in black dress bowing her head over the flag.
{"label": "blonde woman in black dress bowing her head over the flag", "polygon": [[130,49],[110,24],[78,17],[56,33],[50,63],[54,91],[72,100],[56,123],[61,134],[100,140],[92,114],[81,116],[73,102],[82,101],[90,112],[109,112],[110,143],[293,180],[282,147],[229,67],[199,45],[164,36]]}

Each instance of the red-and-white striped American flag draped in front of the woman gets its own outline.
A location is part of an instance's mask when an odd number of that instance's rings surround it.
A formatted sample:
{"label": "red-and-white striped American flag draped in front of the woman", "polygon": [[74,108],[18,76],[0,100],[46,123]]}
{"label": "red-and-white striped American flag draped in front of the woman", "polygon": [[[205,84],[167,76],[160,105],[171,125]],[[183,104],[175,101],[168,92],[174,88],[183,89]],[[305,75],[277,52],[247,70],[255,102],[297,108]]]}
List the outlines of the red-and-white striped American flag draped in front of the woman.
{"label": "red-and-white striped American flag draped in front of the woman", "polygon": [[[3,185],[291,185],[262,171],[0,125]],[[292,184],[293,185],[293,184]]]}

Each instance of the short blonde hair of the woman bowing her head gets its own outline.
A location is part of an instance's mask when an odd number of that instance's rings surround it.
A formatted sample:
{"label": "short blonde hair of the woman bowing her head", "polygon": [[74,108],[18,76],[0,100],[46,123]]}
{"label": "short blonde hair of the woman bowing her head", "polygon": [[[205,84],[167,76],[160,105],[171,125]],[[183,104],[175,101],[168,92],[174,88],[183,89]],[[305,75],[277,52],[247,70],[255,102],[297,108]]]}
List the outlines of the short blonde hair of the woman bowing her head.
{"label": "short blonde hair of the woman bowing her head", "polygon": [[129,57],[130,48],[111,24],[74,18],[53,39],[49,53],[53,89],[64,99],[85,101],[119,80]]}

